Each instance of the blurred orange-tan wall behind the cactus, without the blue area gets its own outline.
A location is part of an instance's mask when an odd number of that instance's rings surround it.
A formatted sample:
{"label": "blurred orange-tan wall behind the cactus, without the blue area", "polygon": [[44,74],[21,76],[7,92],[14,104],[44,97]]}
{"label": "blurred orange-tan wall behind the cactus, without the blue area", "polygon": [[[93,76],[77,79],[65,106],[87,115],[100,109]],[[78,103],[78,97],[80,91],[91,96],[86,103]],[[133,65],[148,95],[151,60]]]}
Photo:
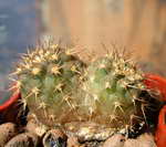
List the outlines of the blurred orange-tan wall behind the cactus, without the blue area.
{"label": "blurred orange-tan wall behind the cactus, without the blue area", "polygon": [[[165,74],[166,0],[43,0],[48,34],[101,54],[118,44]],[[166,74],[165,74],[166,75]]]}

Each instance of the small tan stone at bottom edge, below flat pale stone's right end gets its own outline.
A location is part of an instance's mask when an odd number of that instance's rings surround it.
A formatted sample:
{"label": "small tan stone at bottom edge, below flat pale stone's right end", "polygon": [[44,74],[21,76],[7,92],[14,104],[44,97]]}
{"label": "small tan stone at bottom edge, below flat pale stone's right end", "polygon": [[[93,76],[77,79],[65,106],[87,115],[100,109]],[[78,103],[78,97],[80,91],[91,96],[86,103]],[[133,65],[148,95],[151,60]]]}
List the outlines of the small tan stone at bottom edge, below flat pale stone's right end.
{"label": "small tan stone at bottom edge, below flat pale stone's right end", "polygon": [[124,147],[124,143],[125,137],[121,134],[115,134],[104,143],[103,147]]}

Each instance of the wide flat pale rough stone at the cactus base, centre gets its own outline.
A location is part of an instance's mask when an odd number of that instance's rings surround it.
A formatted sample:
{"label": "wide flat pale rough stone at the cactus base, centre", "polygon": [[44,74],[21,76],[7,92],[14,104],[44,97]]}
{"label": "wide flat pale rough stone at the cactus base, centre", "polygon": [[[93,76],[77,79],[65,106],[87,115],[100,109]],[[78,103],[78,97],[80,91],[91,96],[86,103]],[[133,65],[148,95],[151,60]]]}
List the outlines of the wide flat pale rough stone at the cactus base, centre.
{"label": "wide flat pale rough stone at the cactus base, centre", "polygon": [[92,122],[72,122],[64,125],[68,136],[77,136],[81,143],[97,140],[103,141],[115,133],[114,128],[108,128]]}

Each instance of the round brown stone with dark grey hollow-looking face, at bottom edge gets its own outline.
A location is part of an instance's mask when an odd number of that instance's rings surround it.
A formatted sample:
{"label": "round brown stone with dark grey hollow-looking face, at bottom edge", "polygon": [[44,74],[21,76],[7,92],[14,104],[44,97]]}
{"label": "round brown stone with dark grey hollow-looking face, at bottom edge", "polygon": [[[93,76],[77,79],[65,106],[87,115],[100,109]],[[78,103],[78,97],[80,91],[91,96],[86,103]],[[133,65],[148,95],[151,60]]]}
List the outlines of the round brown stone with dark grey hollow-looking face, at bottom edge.
{"label": "round brown stone with dark grey hollow-looking face, at bottom edge", "polygon": [[51,129],[43,137],[44,147],[66,147],[66,135],[60,129]]}

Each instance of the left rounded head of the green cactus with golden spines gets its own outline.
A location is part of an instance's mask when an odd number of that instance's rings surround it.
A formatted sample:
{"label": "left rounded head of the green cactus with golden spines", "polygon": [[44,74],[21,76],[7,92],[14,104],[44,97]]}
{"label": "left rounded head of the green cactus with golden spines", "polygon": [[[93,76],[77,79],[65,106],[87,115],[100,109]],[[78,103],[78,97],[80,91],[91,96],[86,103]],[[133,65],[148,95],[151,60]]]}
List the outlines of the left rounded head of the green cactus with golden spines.
{"label": "left rounded head of the green cactus with golden spines", "polygon": [[74,93],[85,65],[73,54],[74,50],[48,42],[23,55],[13,73],[23,105],[49,126],[77,119]]}

